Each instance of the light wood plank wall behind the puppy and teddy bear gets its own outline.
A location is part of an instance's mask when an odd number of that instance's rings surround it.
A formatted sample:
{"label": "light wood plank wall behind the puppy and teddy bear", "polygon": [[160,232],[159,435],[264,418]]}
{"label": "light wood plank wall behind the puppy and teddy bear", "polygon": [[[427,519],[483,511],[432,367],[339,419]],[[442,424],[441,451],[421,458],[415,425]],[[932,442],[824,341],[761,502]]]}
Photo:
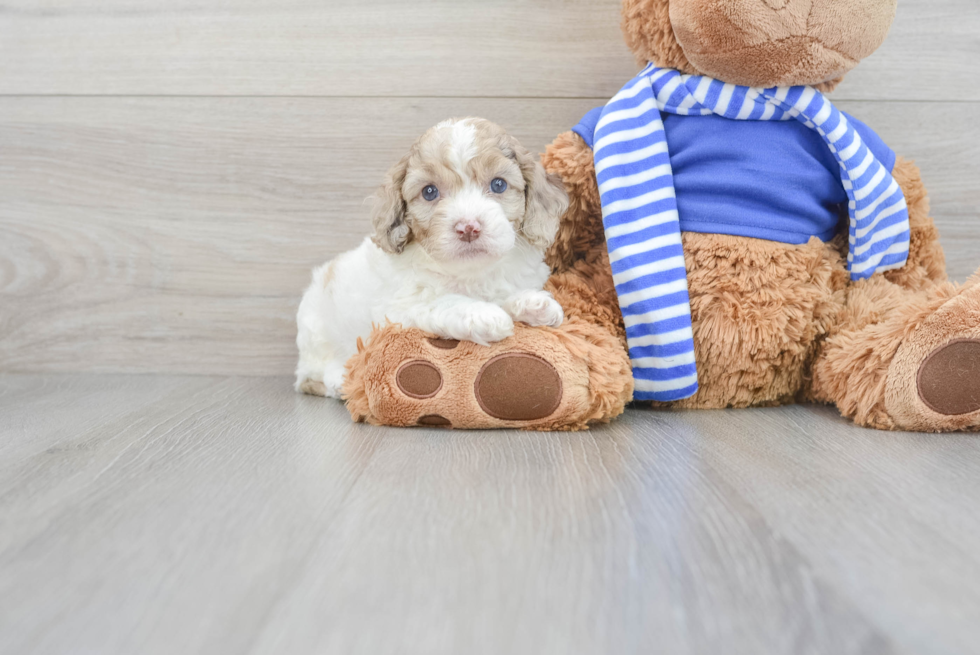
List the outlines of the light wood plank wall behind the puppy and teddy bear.
{"label": "light wood plank wall behind the puppy and teddy bear", "polygon": [[[901,0],[834,95],[980,266],[980,3]],[[635,71],[617,0],[5,0],[0,370],[288,374],[315,264],[421,133],[542,150]]]}

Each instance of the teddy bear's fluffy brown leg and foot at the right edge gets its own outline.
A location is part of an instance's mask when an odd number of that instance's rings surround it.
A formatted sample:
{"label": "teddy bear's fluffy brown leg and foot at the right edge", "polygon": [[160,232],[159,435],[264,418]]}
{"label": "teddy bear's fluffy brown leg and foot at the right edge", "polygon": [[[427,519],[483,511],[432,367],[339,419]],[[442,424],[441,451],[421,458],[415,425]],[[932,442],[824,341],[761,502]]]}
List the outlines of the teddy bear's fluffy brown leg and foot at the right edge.
{"label": "teddy bear's fluffy brown leg and foot at the right edge", "polygon": [[811,393],[867,427],[980,428],[980,277],[913,293],[884,276],[854,284]]}

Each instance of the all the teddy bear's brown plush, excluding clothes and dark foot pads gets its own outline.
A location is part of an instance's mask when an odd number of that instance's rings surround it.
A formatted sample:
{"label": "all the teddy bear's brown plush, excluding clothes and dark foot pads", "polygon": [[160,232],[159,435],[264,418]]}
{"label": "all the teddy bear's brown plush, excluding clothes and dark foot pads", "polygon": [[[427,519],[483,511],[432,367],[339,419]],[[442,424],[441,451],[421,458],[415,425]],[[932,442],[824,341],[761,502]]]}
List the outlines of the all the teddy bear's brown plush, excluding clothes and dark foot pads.
{"label": "all the teddy bear's brown plush, excluding clothes and dark foot pads", "polygon": [[[880,44],[893,13],[893,0],[624,0],[623,32],[641,62],[734,83],[810,83],[828,91]],[[456,412],[455,427],[579,429],[622,411],[632,383],[592,151],[566,132],[543,163],[570,197],[547,255],[554,269],[548,289],[566,323],[521,326],[492,348],[466,344],[452,351],[453,361],[425,351],[427,335],[417,330],[378,330],[348,364],[356,419],[408,425],[445,411]],[[919,170],[899,157],[893,175],[909,205],[909,261],[869,280],[850,281],[846,235],[801,246],[683,235],[700,390],[669,406],[810,401],[833,403],[857,424],[879,429],[980,428],[980,411],[939,414],[919,397],[916,382],[930,353],[959,340],[980,342],[980,275],[963,287],[947,280]],[[561,372],[568,393],[555,413],[508,423],[473,409],[475,371],[501,351],[541,356]],[[399,363],[423,355],[451,379],[439,402],[406,400],[392,390]],[[980,371],[973,377],[980,394]]]}

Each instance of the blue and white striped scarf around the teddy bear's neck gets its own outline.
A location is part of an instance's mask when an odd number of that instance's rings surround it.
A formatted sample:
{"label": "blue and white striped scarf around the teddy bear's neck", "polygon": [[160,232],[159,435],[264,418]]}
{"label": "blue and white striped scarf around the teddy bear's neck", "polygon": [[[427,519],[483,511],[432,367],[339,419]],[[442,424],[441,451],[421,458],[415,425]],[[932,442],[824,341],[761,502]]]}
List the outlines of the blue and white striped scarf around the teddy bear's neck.
{"label": "blue and white striped scarf around the teddy bear's neck", "polygon": [[634,398],[669,402],[693,396],[698,379],[664,111],[798,120],[816,130],[841,166],[850,214],[847,267],[854,280],[905,265],[909,217],[894,178],[816,89],[735,86],[647,66],[603,109],[593,151]]}

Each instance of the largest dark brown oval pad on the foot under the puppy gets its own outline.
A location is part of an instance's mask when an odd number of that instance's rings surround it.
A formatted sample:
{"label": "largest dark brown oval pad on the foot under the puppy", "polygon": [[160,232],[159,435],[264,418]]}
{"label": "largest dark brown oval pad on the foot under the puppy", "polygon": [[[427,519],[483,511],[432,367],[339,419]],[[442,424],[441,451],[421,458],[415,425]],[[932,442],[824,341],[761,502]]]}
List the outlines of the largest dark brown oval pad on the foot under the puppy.
{"label": "largest dark brown oval pad on the foot under the puppy", "polygon": [[534,421],[550,416],[562,399],[555,367],[527,353],[504,353],[480,369],[474,384],[484,412],[505,421]]}

